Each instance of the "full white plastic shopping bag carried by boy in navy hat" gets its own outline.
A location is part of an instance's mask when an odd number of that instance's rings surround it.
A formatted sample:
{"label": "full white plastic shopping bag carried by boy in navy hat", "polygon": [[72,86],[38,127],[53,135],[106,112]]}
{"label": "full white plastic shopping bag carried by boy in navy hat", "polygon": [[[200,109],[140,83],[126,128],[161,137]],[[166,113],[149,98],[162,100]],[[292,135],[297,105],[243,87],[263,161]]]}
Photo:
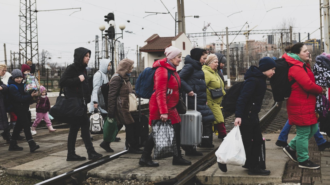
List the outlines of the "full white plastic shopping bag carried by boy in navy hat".
{"label": "full white plastic shopping bag carried by boy in navy hat", "polygon": [[215,152],[216,160],[222,164],[243,166],[246,156],[239,126],[235,126],[224,138]]}

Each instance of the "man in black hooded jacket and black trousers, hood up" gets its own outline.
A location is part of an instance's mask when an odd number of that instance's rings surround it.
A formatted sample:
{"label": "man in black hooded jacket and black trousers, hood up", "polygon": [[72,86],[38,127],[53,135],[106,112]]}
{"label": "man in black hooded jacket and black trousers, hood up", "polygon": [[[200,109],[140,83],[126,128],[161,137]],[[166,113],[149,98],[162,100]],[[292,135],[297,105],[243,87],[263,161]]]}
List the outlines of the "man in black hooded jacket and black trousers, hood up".
{"label": "man in black hooded jacket and black trousers, hood up", "polygon": [[[90,102],[89,86],[87,81],[87,64],[90,59],[91,51],[80,47],[75,49],[74,63],[69,65],[60,79],[60,86],[64,87],[66,97],[80,97],[85,105]],[[82,161],[86,157],[76,154],[75,145],[79,128],[81,128],[81,137],[88,153],[88,160],[102,157],[102,154],[94,150],[89,132],[89,119],[87,117],[87,106],[84,106],[84,114],[80,120],[70,124],[68,135],[68,155],[67,161]]]}

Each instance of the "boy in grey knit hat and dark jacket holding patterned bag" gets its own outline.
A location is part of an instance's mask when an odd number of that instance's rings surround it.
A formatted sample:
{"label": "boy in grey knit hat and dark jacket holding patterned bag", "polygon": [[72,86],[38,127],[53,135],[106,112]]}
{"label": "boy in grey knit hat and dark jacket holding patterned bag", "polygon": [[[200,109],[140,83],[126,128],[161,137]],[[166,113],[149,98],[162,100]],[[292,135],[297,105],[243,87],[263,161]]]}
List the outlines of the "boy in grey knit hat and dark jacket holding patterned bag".
{"label": "boy in grey knit hat and dark jacket holding patterned bag", "polygon": [[14,113],[17,116],[16,125],[13,130],[13,135],[10,140],[9,149],[8,150],[23,150],[23,147],[19,147],[17,145],[17,139],[20,131],[24,129],[25,139],[29,143],[30,152],[35,151],[39,148],[32,138],[32,134],[30,131],[30,121],[29,121],[29,107],[30,101],[32,97],[37,96],[38,92],[34,91],[32,94],[25,94],[24,92],[24,84],[23,74],[19,69],[14,69],[12,71],[12,76],[9,77],[8,85],[9,85],[9,99],[11,105],[13,106]]}

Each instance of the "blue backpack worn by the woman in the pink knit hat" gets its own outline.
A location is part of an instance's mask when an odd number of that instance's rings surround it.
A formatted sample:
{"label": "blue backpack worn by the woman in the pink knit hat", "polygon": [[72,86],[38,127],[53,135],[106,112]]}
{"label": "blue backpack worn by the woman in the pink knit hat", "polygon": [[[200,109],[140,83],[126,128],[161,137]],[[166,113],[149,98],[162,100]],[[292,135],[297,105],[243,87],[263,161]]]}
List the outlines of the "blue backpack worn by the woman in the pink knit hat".
{"label": "blue backpack worn by the woman in the pink knit hat", "polygon": [[[158,67],[147,67],[139,75],[135,82],[135,92],[144,99],[150,99],[151,94],[155,92],[153,90],[154,81],[153,76],[155,75],[156,69]],[[167,69],[167,68],[166,68]],[[171,72],[167,69],[167,81],[171,78]],[[173,74],[173,73],[172,73]]]}

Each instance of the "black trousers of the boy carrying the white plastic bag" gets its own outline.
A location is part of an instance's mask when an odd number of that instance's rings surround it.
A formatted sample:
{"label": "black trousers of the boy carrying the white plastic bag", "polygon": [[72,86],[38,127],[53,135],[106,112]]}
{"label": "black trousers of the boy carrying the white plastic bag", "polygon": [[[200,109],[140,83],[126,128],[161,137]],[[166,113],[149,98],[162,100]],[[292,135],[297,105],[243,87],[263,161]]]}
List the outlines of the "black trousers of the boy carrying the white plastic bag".
{"label": "black trousers of the boy carrying the white plastic bag", "polygon": [[[243,145],[246,155],[246,167],[255,168],[259,165],[259,154],[261,152],[262,134],[259,124],[240,126]],[[253,142],[252,142],[253,140]]]}

